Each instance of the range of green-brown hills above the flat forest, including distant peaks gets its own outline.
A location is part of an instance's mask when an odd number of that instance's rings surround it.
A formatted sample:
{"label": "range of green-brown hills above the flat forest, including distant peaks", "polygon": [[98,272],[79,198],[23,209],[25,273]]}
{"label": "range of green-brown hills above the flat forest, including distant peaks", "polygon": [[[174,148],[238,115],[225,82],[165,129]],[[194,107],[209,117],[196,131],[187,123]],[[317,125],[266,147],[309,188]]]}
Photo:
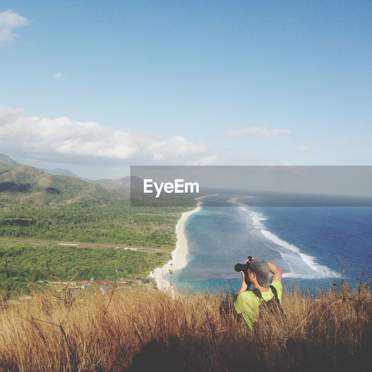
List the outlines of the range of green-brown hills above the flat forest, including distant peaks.
{"label": "range of green-brown hills above the flat forest, including distant peaks", "polygon": [[[53,174],[55,173],[55,174]],[[63,174],[65,173],[65,174]],[[0,205],[14,203],[61,206],[66,204],[188,207],[200,195],[167,195],[154,199],[143,195],[143,180],[137,176],[88,180],[67,169],[29,167],[0,154]],[[171,196],[171,198],[169,198]]]}

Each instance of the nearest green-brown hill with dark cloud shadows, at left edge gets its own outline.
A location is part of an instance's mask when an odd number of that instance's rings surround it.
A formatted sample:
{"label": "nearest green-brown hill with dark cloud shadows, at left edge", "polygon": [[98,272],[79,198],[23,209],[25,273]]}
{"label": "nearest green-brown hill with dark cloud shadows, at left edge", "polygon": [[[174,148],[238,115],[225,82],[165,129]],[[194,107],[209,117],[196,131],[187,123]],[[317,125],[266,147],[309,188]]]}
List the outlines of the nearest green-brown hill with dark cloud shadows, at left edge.
{"label": "nearest green-brown hill with dark cloud shadows, at left edge", "polygon": [[54,176],[25,165],[0,165],[0,203],[3,206],[14,203],[110,205],[127,198],[124,192],[109,191],[77,177]]}

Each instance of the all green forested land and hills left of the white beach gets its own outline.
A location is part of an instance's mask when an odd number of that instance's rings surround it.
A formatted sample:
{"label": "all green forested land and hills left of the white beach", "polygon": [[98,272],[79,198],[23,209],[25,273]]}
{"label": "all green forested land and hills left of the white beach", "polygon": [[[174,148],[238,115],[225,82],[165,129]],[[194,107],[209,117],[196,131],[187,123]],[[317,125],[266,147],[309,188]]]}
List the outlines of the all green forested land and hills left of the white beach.
{"label": "all green forested land and hills left of the white beach", "polygon": [[[16,162],[14,162],[16,163]],[[102,187],[68,175],[53,175],[0,156],[0,297],[26,292],[53,269],[63,280],[101,280],[115,275],[147,275],[170,260],[181,213],[195,208],[195,197],[174,196],[174,206],[154,206],[152,199],[129,205],[129,185],[138,177],[101,180]],[[128,189],[127,189],[128,188]],[[167,200],[165,200],[167,201]],[[21,239],[22,241],[17,241]],[[14,241],[15,240],[15,241]],[[146,247],[154,253],[96,247],[47,246],[23,240]],[[20,264],[20,263],[25,264]],[[49,266],[49,268],[48,268]]]}

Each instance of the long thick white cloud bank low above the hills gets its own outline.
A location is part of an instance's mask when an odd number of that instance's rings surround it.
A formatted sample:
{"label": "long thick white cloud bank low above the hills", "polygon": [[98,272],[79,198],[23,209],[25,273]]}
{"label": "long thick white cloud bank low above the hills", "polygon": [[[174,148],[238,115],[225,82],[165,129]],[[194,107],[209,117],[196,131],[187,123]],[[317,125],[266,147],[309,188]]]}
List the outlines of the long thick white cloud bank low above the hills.
{"label": "long thick white cloud bank low above the hills", "polygon": [[[182,136],[163,137],[154,132],[106,128],[96,122],[21,116],[21,110],[0,109],[2,152],[56,163],[129,164],[168,162],[185,164],[211,155],[205,144]],[[22,155],[20,155],[22,157]]]}

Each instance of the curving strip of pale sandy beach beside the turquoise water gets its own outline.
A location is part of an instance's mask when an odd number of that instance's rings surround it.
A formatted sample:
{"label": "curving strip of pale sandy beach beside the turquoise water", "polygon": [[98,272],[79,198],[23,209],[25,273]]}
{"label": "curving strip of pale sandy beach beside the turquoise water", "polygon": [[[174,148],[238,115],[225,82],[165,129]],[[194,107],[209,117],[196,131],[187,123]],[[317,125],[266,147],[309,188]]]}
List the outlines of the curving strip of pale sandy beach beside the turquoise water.
{"label": "curving strip of pale sandy beach beside the turquoise water", "polygon": [[[208,196],[208,195],[206,195]],[[181,218],[178,220],[176,225],[176,248],[172,251],[172,259],[167,262],[163,267],[157,267],[151,274],[150,277],[154,278],[156,280],[158,289],[161,291],[171,291],[174,295],[174,288],[171,283],[164,279],[164,275],[169,273],[169,270],[174,271],[178,269],[182,269],[182,267],[185,267],[187,264],[186,256],[188,253],[188,247],[187,247],[187,240],[184,234],[184,227],[185,222],[187,218],[192,215],[193,213],[196,213],[201,208],[201,201],[199,199],[206,198],[206,196],[201,196],[200,198],[196,198],[198,203],[196,204],[196,208],[189,212],[183,212],[181,215]]]}

